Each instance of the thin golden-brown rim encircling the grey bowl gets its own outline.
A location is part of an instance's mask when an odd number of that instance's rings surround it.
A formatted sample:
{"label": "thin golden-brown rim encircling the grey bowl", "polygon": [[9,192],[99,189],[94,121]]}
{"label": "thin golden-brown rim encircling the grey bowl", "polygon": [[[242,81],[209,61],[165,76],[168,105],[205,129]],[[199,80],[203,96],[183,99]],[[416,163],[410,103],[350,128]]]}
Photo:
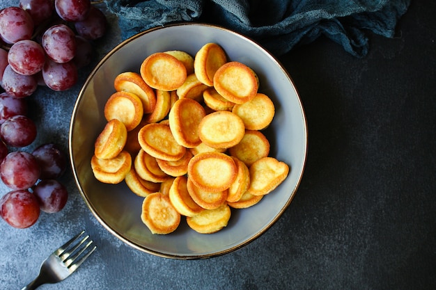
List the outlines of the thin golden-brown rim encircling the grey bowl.
{"label": "thin golden-brown rim encircling the grey bowl", "polygon": [[[226,248],[225,250],[220,250],[218,252],[212,252],[212,253],[201,254],[201,255],[173,255],[173,254],[169,254],[169,253],[159,252],[157,250],[152,250],[150,248],[144,247],[143,245],[139,245],[139,244],[135,243],[134,241],[130,241],[125,236],[123,236],[123,234],[121,234],[120,232],[116,231],[116,229],[112,228],[110,225],[105,223],[104,220],[102,220],[102,218],[98,215],[96,209],[93,207],[93,205],[91,204],[90,200],[88,200],[88,198],[86,197],[86,194],[84,193],[84,190],[83,190],[83,188],[81,186],[81,182],[79,181],[79,177],[78,177],[77,172],[75,170],[75,161],[74,161],[74,159],[72,157],[72,155],[73,155],[72,154],[72,131],[73,131],[73,127],[74,127],[75,116],[77,115],[77,110],[78,110],[79,104],[81,102],[82,96],[84,95],[84,92],[85,92],[86,88],[88,87],[89,83],[91,82],[91,80],[93,79],[95,74],[98,72],[100,67],[102,67],[102,65],[107,61],[107,59],[110,58],[113,54],[115,54],[116,51],[118,51],[119,49],[122,49],[129,42],[132,42],[133,40],[135,40],[137,38],[141,38],[142,35],[145,35],[147,33],[151,33],[153,31],[157,31],[157,30],[161,30],[161,29],[167,29],[167,28],[170,28],[170,27],[173,27],[173,26],[207,26],[207,27],[210,27],[212,29],[219,29],[219,30],[222,30],[222,31],[226,31],[227,33],[231,33],[231,34],[237,36],[238,38],[243,38],[247,42],[250,42],[251,45],[256,46],[260,51],[263,51],[263,53],[265,53],[269,58],[272,59],[272,61],[274,61],[274,63],[276,63],[276,65],[282,70],[283,74],[286,75],[286,77],[289,79],[291,85],[293,86],[293,89],[295,90],[295,95],[297,97],[297,103],[299,105],[299,110],[302,113],[302,122],[303,122],[303,125],[304,125],[304,130],[303,131],[304,131],[304,145],[305,146],[304,146],[304,154],[302,156],[302,164],[301,164],[302,168],[301,168],[301,170],[299,172],[297,183],[295,184],[295,187],[293,188],[292,192],[290,193],[290,196],[289,196],[288,200],[283,205],[283,207],[280,209],[280,211],[277,213],[277,215],[274,216],[274,218],[270,221],[270,223],[268,223],[267,225],[265,225],[265,227],[263,227],[258,232],[256,232],[256,234],[254,234],[253,236],[249,237],[249,239],[247,239],[246,241],[242,241],[241,243],[238,243],[238,245],[234,245],[231,248]],[[164,26],[157,26],[157,27],[154,27],[154,28],[151,28],[151,29],[147,29],[145,31],[141,31],[141,32],[139,32],[139,33],[137,33],[135,35],[132,35],[132,36],[130,36],[130,38],[127,38],[127,39],[123,40],[122,42],[118,43],[118,45],[116,45],[115,47],[110,49],[101,58],[101,60],[98,61],[98,63],[93,68],[93,70],[88,74],[88,77],[84,81],[84,84],[81,86],[81,89],[79,90],[79,94],[77,95],[77,99],[76,99],[75,105],[74,105],[73,110],[72,110],[72,115],[71,115],[71,118],[70,118],[70,128],[69,128],[69,133],[68,133],[68,152],[69,152],[70,166],[72,166],[72,174],[73,174],[73,177],[75,179],[75,184],[77,186],[77,189],[79,190],[81,198],[84,200],[84,202],[86,203],[86,206],[91,211],[91,213],[93,214],[94,218],[96,218],[98,220],[100,225],[102,225],[105,229],[107,229],[107,231],[110,232],[112,235],[116,236],[116,238],[120,239],[121,241],[123,241],[127,245],[130,245],[132,248],[140,250],[141,252],[146,252],[148,254],[155,255],[157,257],[164,257],[164,258],[169,258],[169,259],[182,259],[182,260],[205,259],[205,258],[218,257],[218,256],[221,256],[221,255],[225,255],[225,254],[228,254],[228,253],[233,252],[235,250],[238,250],[240,248],[243,248],[245,245],[248,245],[249,243],[255,241],[260,236],[265,234],[265,232],[267,232],[267,230],[270,229],[272,227],[272,225],[274,225],[274,223],[277,222],[277,220],[279,220],[279,218],[282,216],[284,211],[286,211],[286,209],[288,209],[290,203],[292,202],[293,198],[295,197],[297,189],[299,188],[299,184],[302,181],[304,170],[306,168],[308,146],[309,146],[308,145],[308,124],[307,124],[306,113],[304,111],[304,106],[302,104],[302,100],[301,100],[301,97],[299,96],[299,92],[298,92],[298,90],[297,90],[297,88],[295,86],[295,83],[294,83],[292,77],[290,76],[289,72],[283,66],[283,64],[277,59],[276,56],[271,54],[270,51],[268,51],[263,46],[261,46],[258,42],[256,42],[255,40],[247,37],[246,35],[243,35],[242,33],[239,33],[237,31],[233,31],[231,29],[227,29],[224,26],[219,26],[219,25],[216,25],[216,24],[207,24],[207,23],[202,23],[202,22],[180,22],[180,23],[166,24]]]}

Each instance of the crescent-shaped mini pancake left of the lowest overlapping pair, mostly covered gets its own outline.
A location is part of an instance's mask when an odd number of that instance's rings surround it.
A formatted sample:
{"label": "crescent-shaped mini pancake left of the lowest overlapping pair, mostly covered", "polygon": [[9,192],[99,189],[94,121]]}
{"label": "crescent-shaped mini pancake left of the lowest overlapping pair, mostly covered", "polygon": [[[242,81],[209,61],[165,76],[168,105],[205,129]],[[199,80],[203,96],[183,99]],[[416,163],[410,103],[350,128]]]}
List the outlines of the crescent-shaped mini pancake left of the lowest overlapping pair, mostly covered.
{"label": "crescent-shaped mini pancake left of the lowest overlapping pair, mostly covered", "polygon": [[189,195],[186,176],[180,176],[174,179],[169,190],[169,200],[171,200],[173,207],[182,216],[195,216],[203,211],[203,208],[196,204]]}

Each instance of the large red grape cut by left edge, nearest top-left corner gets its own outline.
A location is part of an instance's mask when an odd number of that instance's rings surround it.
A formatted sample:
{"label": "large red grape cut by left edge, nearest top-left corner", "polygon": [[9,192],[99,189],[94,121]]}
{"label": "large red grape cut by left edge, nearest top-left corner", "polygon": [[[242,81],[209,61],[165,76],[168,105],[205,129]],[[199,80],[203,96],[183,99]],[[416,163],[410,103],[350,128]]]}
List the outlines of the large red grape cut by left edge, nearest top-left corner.
{"label": "large red grape cut by left edge, nearest top-left corner", "polygon": [[19,40],[31,39],[34,24],[32,17],[20,7],[4,8],[0,12],[0,37],[12,45]]}

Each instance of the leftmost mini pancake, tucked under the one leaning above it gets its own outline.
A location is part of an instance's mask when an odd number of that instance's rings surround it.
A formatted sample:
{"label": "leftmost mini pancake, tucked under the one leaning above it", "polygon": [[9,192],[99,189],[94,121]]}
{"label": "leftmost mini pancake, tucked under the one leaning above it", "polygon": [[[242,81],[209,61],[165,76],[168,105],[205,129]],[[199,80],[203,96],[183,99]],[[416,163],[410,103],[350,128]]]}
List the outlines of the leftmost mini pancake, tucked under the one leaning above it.
{"label": "leftmost mini pancake, tucked under the one leaning above it", "polygon": [[95,179],[105,184],[119,184],[132,167],[132,156],[127,151],[121,151],[111,159],[98,159],[93,155],[91,168]]}

